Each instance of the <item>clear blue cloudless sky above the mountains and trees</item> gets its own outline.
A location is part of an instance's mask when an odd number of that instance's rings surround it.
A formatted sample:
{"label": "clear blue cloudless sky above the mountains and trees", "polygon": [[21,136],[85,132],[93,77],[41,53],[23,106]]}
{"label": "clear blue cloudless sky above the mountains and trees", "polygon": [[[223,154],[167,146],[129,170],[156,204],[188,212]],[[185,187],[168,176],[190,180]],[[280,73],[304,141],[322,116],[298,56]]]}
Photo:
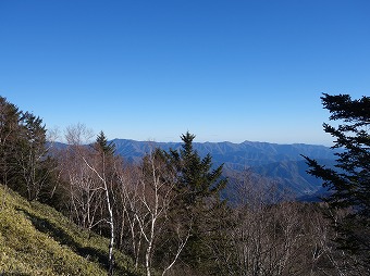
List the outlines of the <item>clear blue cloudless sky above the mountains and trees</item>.
{"label": "clear blue cloudless sky above the mountains and trees", "polygon": [[370,1],[0,0],[0,95],[109,139],[324,143],[370,92]]}

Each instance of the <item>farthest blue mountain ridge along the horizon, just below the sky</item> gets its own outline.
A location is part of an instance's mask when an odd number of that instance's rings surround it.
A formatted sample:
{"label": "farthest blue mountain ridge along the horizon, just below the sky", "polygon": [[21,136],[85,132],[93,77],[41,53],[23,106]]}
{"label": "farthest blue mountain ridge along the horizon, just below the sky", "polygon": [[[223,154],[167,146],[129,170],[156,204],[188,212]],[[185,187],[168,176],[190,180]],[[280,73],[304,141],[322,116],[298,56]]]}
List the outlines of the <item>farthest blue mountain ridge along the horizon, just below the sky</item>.
{"label": "farthest blue mountain ridge along the horizon, just below the sky", "polygon": [[[182,142],[137,141],[132,139],[113,139],[110,142],[115,145],[119,154],[128,159],[143,156],[156,147],[163,150],[178,150],[182,145]],[[215,163],[220,163],[218,160],[219,156],[222,156],[221,163],[234,160],[237,164],[244,164],[245,166],[256,166],[276,161],[299,161],[303,160],[301,155],[308,155],[313,159],[334,159],[333,150],[321,145],[281,145],[258,141],[233,143],[223,141],[194,142],[193,146],[200,155],[211,154]]]}

